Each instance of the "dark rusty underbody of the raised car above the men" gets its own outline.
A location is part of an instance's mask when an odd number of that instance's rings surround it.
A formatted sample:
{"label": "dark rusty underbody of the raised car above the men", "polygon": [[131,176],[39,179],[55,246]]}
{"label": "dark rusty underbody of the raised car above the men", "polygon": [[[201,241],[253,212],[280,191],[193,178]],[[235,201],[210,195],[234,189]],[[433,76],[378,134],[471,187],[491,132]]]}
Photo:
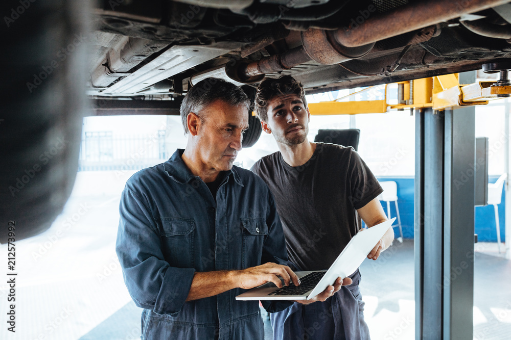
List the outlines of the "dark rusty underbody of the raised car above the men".
{"label": "dark rusty underbody of the raised car above the men", "polygon": [[207,76],[282,74],[318,93],[511,58],[507,1],[111,0],[91,19],[92,98],[173,100]]}

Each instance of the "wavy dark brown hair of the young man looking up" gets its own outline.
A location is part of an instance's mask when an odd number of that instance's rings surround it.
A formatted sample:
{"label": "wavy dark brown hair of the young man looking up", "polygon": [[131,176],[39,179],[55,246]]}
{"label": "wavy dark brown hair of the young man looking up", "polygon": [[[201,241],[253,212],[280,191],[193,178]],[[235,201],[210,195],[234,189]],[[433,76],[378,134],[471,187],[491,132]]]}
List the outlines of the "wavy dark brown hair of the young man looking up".
{"label": "wavy dark brown hair of the young man looking up", "polygon": [[307,108],[304,85],[292,76],[283,75],[277,79],[263,79],[257,88],[257,94],[255,94],[255,113],[257,113],[259,119],[264,122],[268,120],[268,101],[275,96],[289,94],[296,94],[300,97]]}

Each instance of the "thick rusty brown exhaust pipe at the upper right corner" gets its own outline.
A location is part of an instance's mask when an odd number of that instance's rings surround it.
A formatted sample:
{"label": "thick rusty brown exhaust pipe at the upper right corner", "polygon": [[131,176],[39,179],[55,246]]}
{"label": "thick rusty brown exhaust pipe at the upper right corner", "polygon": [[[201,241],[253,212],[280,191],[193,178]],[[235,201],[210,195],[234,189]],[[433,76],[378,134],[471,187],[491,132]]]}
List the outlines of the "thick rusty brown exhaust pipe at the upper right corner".
{"label": "thick rusty brown exhaust pipe at the upper right corner", "polygon": [[362,46],[508,2],[509,0],[429,0],[410,4],[369,17],[356,28],[339,29],[335,31],[335,39],[347,47]]}

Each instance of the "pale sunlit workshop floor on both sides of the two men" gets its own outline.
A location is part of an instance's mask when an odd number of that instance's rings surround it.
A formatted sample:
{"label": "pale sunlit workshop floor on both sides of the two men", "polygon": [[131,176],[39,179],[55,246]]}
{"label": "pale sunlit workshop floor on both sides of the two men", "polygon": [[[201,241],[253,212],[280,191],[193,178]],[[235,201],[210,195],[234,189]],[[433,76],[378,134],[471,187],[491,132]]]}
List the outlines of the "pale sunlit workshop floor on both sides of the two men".
{"label": "pale sunlit workshop floor on both sides of the two men", "polygon": [[[131,301],[114,250],[119,188],[114,188],[116,194],[103,190],[94,196],[74,192],[48,231],[16,242],[16,333],[1,327],[1,339],[140,338],[141,309]],[[496,244],[476,245],[478,340],[509,339],[511,334],[511,262],[496,256],[495,249]],[[0,250],[7,254],[5,245]],[[361,272],[365,318],[373,340],[413,339],[413,242],[394,243],[379,260],[365,260]],[[8,286],[6,280],[0,282],[4,313]],[[269,320],[265,324],[269,326]]]}

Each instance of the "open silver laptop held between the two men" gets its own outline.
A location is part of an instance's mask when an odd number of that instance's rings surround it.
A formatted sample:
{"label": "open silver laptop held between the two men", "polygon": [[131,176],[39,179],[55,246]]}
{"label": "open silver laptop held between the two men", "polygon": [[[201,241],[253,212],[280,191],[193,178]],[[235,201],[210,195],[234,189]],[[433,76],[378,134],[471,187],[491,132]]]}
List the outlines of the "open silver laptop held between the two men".
{"label": "open silver laptop held between the two men", "polygon": [[344,247],[339,256],[337,256],[328,271],[295,272],[301,281],[299,286],[295,286],[291,282],[289,286],[278,288],[273,282],[267,282],[238,295],[236,300],[312,299],[323,292],[329,285],[333,285],[338,277],[345,278],[353,274],[390,228],[394,220],[396,220],[395,217],[358,232]]}

